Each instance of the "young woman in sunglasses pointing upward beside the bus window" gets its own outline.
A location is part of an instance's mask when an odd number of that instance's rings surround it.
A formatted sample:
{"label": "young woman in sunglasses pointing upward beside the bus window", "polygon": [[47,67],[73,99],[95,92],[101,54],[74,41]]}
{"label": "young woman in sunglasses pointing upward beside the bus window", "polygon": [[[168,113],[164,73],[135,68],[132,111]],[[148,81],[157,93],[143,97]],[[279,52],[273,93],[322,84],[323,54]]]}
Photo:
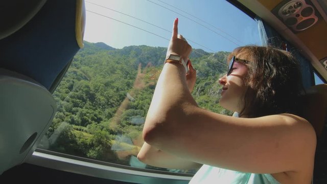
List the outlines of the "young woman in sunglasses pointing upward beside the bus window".
{"label": "young woman in sunglasses pointing upward beside the bus window", "polygon": [[[241,47],[219,79],[229,117],[198,107],[191,96],[196,71],[182,62],[191,46],[178,19],[143,129],[138,159],[171,169],[201,168],[190,183],[306,183],[312,181],[316,134],[300,117],[300,72],[290,53]],[[186,77],[185,77],[186,76]]]}

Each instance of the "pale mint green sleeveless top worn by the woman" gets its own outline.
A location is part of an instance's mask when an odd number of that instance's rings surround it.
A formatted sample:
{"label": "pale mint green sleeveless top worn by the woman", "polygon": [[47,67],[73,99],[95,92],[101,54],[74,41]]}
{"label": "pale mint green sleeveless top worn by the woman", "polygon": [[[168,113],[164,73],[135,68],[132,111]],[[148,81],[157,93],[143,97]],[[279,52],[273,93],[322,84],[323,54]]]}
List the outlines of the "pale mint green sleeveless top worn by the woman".
{"label": "pale mint green sleeveless top worn by the woman", "polygon": [[203,165],[189,184],[280,184],[271,174],[254,174],[231,171]]}

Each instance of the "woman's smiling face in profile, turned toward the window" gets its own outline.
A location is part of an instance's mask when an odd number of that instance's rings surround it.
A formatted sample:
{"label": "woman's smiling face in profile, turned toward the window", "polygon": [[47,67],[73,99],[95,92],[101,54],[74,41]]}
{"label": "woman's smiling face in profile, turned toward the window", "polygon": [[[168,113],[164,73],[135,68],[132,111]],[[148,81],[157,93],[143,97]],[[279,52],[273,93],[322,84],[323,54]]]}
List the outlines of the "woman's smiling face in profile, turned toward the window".
{"label": "woman's smiling face in profile, turned toward the window", "polygon": [[[242,54],[237,54],[236,58],[245,59]],[[244,96],[247,86],[244,82],[244,77],[248,72],[248,68],[244,63],[235,61],[229,76],[224,75],[219,79],[219,83],[223,86],[220,105],[231,111],[242,111],[244,107]]]}

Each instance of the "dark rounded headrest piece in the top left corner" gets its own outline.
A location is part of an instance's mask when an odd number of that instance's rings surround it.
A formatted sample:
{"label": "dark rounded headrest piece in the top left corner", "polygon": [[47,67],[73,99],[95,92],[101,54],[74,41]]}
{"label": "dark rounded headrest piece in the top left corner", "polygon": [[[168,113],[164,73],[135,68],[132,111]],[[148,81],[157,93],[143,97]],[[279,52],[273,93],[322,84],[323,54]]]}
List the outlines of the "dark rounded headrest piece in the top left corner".
{"label": "dark rounded headrest piece in the top left corner", "polygon": [[0,39],[6,38],[26,25],[45,2],[46,0],[1,1],[0,17],[3,18],[0,21]]}

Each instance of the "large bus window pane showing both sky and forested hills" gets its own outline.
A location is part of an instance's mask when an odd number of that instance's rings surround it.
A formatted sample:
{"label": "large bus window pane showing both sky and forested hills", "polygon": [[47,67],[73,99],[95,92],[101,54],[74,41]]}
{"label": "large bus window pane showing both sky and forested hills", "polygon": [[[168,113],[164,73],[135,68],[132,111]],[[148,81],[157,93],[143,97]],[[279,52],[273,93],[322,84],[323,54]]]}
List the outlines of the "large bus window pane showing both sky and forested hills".
{"label": "large bus window pane showing both sky and forested hills", "polygon": [[260,45],[256,22],[226,1],[117,0],[85,2],[84,48],[53,95],[58,111],[38,148],[138,168],[142,129],[160,74],[173,20],[192,45],[199,106],[219,105],[226,56],[240,45]]}

